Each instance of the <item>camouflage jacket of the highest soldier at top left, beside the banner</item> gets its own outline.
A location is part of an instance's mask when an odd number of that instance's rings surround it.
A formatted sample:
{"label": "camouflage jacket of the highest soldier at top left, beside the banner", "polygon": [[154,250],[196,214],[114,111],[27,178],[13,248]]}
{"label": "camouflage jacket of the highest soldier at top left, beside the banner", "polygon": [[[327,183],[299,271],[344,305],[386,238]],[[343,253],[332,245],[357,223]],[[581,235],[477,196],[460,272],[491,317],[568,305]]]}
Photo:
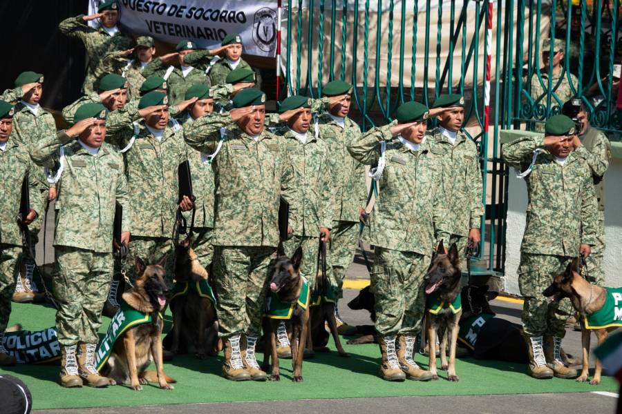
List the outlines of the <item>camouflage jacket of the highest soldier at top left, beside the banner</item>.
{"label": "camouflage jacket of the highest soldier at top left, beside the banner", "polygon": [[84,44],[88,66],[86,66],[82,92],[88,95],[97,90],[95,83],[105,73],[102,59],[111,52],[133,48],[135,41],[130,34],[122,30],[111,36],[103,28],[91,28],[82,17],[84,14],[64,19],[59,23],[58,28],[62,34],[78,39]]}

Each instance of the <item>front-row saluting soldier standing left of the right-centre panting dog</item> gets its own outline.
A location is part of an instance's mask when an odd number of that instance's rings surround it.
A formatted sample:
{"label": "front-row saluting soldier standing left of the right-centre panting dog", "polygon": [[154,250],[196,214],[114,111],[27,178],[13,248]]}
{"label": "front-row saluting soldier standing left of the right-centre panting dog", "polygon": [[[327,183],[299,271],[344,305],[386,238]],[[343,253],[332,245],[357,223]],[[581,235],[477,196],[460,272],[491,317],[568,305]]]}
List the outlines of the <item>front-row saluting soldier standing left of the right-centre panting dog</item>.
{"label": "front-row saluting soldier standing left of the right-centre panting dog", "polygon": [[[348,150],[375,170],[381,188],[370,215],[368,242],[375,246],[371,289],[382,353],[381,376],[388,381],[430,380],[413,359],[424,316],[424,275],[444,230],[442,144],[426,137],[428,108],[408,102],[397,121],[373,128]],[[381,143],[382,146],[381,146]],[[386,143],[386,144],[384,144]],[[386,149],[384,147],[386,145]],[[396,346],[399,350],[396,352]]]}

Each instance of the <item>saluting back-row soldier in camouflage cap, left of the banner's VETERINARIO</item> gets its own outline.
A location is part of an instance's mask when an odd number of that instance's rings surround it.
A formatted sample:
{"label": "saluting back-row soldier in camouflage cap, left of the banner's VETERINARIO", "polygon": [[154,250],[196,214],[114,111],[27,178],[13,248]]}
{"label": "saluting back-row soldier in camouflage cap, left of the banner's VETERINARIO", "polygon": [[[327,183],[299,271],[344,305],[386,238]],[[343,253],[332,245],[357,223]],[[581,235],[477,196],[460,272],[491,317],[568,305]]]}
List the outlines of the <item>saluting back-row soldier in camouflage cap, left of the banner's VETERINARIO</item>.
{"label": "saluting back-row soldier in camouflage cap, left of the banner's VETERINARIO", "polygon": [[[134,54],[135,59],[128,59]],[[140,86],[145,81],[142,70],[153,60],[156,54],[156,42],[153,37],[141,36],[136,39],[133,49],[112,52],[102,59],[104,72],[116,73],[127,79],[130,99],[140,99]]]}

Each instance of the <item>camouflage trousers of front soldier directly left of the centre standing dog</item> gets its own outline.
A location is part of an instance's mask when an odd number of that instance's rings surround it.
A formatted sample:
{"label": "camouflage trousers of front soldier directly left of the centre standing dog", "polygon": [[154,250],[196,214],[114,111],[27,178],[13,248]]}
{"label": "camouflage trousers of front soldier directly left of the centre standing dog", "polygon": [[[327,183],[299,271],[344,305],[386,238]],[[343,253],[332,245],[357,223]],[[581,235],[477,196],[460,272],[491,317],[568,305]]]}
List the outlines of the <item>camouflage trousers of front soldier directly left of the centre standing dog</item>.
{"label": "camouflage trousers of front soldier directly left of the centre standing dog", "polygon": [[270,246],[214,246],[218,335],[259,336],[270,264],[275,253],[276,247]]}

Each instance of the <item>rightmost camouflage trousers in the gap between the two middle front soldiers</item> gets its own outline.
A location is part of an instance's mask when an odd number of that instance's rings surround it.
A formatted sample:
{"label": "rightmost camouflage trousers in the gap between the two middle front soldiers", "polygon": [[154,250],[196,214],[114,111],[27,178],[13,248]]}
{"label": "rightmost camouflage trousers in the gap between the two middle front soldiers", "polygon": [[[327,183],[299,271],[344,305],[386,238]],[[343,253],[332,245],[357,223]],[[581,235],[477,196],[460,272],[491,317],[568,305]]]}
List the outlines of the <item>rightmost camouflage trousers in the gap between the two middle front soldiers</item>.
{"label": "rightmost camouflage trousers in the gap between the two middle front soldiers", "polygon": [[328,243],[328,280],[335,299],[343,297],[343,279],[357,252],[359,224],[353,221],[333,221]]}

